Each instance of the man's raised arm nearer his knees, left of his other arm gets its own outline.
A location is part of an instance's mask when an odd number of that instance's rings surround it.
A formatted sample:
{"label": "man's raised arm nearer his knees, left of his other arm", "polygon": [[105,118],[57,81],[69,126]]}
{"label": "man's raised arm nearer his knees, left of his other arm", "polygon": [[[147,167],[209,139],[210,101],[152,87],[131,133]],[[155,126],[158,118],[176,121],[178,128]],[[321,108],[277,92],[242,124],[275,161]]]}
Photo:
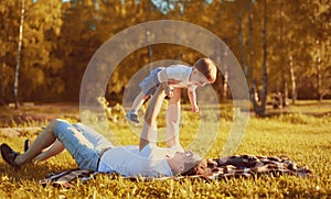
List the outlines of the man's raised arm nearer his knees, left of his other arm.
{"label": "man's raised arm nearer his knees, left of his other arm", "polygon": [[160,84],[156,93],[152,96],[143,117],[139,151],[141,151],[146,145],[148,145],[151,142],[157,143],[157,117],[160,112],[164,97],[164,85]]}

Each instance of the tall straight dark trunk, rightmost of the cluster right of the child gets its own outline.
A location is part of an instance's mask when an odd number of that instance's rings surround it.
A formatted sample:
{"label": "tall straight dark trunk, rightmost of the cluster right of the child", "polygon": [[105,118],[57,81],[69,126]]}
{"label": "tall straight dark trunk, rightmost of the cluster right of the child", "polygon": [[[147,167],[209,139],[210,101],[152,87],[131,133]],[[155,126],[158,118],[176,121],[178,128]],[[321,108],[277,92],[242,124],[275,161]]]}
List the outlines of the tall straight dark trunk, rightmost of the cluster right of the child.
{"label": "tall straight dark trunk, rightmost of the cluster right of the child", "polygon": [[266,112],[266,100],[267,100],[267,0],[264,3],[264,27],[263,27],[263,47],[264,47],[264,59],[263,59],[263,90],[261,90],[261,108],[259,110],[260,115],[265,115]]}

